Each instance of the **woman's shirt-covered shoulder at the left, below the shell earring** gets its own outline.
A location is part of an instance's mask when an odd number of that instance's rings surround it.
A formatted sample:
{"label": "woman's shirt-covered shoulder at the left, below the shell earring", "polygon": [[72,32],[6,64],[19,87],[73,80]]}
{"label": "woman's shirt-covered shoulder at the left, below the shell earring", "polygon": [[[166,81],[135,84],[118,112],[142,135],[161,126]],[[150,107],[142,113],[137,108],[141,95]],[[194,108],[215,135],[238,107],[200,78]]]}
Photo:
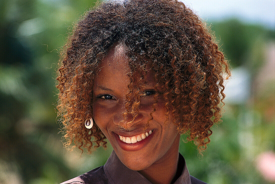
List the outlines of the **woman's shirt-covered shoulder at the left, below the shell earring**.
{"label": "woman's shirt-covered shoulder at the left, below the shell earring", "polygon": [[107,184],[108,178],[103,170],[103,166],[97,167],[78,177],[62,182],[60,184]]}

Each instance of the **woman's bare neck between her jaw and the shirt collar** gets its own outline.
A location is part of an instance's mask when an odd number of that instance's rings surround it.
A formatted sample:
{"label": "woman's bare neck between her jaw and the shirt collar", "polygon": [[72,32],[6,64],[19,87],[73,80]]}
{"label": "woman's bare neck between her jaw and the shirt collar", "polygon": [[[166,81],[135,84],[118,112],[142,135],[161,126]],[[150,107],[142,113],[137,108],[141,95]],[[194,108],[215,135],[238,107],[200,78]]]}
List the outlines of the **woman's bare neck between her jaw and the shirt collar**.
{"label": "woman's bare neck between her jaw and the shirt collar", "polygon": [[153,184],[170,184],[177,173],[179,143],[180,136],[178,135],[173,143],[177,146],[171,146],[160,160],[138,172]]}

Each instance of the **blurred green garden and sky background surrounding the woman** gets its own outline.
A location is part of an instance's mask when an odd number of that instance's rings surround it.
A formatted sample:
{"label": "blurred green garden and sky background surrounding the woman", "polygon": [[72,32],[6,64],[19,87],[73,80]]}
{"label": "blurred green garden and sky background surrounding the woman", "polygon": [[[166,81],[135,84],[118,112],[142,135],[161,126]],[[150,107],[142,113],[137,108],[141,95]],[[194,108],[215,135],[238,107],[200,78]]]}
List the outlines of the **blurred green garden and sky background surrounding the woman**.
{"label": "blurred green garden and sky background surrounding the woman", "polygon": [[[223,122],[204,157],[180,144],[191,175],[211,184],[275,183],[274,0],[184,0],[207,22],[232,67]],[[55,106],[58,52],[93,0],[0,1],[0,184],[61,183],[112,147],[68,152]],[[183,139],[186,136],[183,136]]]}

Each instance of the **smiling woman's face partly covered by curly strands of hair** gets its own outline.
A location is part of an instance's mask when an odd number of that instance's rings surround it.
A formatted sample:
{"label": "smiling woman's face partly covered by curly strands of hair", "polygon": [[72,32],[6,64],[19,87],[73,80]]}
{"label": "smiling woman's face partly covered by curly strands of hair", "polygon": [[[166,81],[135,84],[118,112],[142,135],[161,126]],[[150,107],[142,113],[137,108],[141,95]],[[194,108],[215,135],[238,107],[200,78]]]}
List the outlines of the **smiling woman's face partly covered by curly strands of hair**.
{"label": "smiling woman's face partly covered by curly strands of hair", "polygon": [[[122,128],[126,127],[120,121],[123,119],[122,112],[125,110],[123,104],[128,89],[128,71],[124,47],[114,46],[101,62],[100,71],[95,78],[93,115],[95,123],[111,143],[120,161],[128,168],[139,171],[154,163],[167,161],[172,152],[178,154],[180,136],[172,123],[172,117],[169,117],[168,122],[170,129],[164,130],[166,110],[161,95],[158,98],[156,112],[153,113],[153,120],[146,129],[148,134],[142,131],[150,119],[152,105],[155,102],[152,70],[149,70],[146,75],[148,82],[145,85],[144,94],[141,94],[138,116],[128,124],[126,129]],[[129,121],[131,121],[130,116],[128,116]]]}

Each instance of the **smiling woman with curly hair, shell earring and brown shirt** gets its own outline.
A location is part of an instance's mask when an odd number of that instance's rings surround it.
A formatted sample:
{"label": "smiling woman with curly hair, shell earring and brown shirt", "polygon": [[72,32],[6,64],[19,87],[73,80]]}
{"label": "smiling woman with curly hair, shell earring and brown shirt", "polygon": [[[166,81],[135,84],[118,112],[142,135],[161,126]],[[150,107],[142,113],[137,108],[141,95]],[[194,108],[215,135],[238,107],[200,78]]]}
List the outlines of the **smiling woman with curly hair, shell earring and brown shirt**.
{"label": "smiling woman with curly hair, shell earring and brown shirt", "polygon": [[204,183],[189,175],[180,135],[206,149],[230,72],[182,2],[105,2],[88,11],[58,71],[65,145],[90,152],[107,138],[114,149],[104,166],[64,184]]}

